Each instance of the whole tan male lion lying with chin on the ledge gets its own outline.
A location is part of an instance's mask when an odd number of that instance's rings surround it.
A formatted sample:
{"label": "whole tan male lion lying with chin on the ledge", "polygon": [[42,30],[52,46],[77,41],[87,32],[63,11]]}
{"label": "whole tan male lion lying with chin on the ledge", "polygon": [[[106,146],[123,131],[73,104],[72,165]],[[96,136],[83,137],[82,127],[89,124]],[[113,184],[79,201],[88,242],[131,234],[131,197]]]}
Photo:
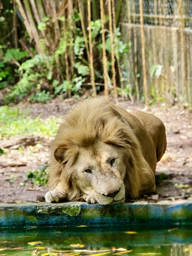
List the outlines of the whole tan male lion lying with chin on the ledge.
{"label": "whole tan male lion lying with chin on the ledge", "polygon": [[167,146],[152,114],[131,113],[104,97],[75,104],[50,146],[46,202],[102,205],[155,191],[155,169]]}

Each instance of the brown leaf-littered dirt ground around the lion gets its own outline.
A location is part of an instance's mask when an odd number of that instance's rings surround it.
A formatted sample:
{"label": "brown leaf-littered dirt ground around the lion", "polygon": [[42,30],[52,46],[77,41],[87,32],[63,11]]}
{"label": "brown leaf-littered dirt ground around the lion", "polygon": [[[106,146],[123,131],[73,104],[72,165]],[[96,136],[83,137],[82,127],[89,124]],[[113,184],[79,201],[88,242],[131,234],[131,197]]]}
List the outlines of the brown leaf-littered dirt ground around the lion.
{"label": "brown leaf-littered dirt ground around the lion", "polygon": [[[62,116],[74,102],[74,99],[57,98],[48,104],[26,103],[20,108],[28,107],[33,118],[42,113],[41,118],[44,119],[50,115]],[[131,104],[130,101],[120,102],[119,106],[128,111],[144,108],[143,105]],[[147,112],[158,116],[164,122],[167,151],[156,169],[158,194],[144,197],[144,200],[157,202],[165,199],[192,199],[192,111],[180,105],[170,107],[161,104],[150,107]],[[0,140],[0,147],[7,151],[6,155],[0,156],[1,203],[44,200],[46,188],[33,185],[25,175],[48,163],[51,140],[50,137],[12,137],[9,140]]]}

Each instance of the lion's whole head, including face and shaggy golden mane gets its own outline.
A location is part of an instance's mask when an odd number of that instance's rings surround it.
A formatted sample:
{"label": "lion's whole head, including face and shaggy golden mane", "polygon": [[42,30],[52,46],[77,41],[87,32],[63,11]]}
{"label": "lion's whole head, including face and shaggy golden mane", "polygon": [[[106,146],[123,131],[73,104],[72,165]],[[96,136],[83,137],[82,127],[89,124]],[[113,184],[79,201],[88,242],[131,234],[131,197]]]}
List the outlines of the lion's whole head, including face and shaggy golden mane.
{"label": "lion's whole head, including face and shaggy golden mane", "polygon": [[108,204],[138,196],[142,162],[132,128],[105,98],[76,104],[51,145],[48,188],[58,184],[67,200]]}

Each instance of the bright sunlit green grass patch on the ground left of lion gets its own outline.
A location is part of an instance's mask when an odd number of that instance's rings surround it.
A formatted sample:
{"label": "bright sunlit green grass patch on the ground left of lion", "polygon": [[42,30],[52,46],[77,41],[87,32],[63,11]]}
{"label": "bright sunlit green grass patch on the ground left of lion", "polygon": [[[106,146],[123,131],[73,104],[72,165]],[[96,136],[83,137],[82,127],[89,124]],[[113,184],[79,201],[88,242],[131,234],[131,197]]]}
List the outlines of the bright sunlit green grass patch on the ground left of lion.
{"label": "bright sunlit green grass patch on the ground left of lion", "polygon": [[0,107],[0,139],[11,136],[55,136],[59,118],[50,116],[42,119],[41,115],[35,119],[29,117],[29,110],[19,110],[18,108]]}

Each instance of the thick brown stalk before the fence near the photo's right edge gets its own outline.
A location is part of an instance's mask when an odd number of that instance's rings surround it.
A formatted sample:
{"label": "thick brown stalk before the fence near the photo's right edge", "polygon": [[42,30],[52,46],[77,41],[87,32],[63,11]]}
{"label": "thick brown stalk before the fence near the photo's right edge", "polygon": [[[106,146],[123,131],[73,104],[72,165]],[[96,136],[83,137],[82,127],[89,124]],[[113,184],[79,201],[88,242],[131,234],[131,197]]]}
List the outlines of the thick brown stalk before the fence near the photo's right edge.
{"label": "thick brown stalk before the fence near the photo's right edge", "polygon": [[[181,0],[178,0],[178,13],[179,16],[182,17],[182,5]],[[185,58],[185,38],[184,38],[184,24],[183,21],[180,20],[180,35],[181,35],[181,59],[182,59],[182,70],[183,70],[183,83],[186,91],[186,100],[189,102],[189,95],[188,95],[188,87],[187,87],[187,70],[186,70],[186,58]]]}

